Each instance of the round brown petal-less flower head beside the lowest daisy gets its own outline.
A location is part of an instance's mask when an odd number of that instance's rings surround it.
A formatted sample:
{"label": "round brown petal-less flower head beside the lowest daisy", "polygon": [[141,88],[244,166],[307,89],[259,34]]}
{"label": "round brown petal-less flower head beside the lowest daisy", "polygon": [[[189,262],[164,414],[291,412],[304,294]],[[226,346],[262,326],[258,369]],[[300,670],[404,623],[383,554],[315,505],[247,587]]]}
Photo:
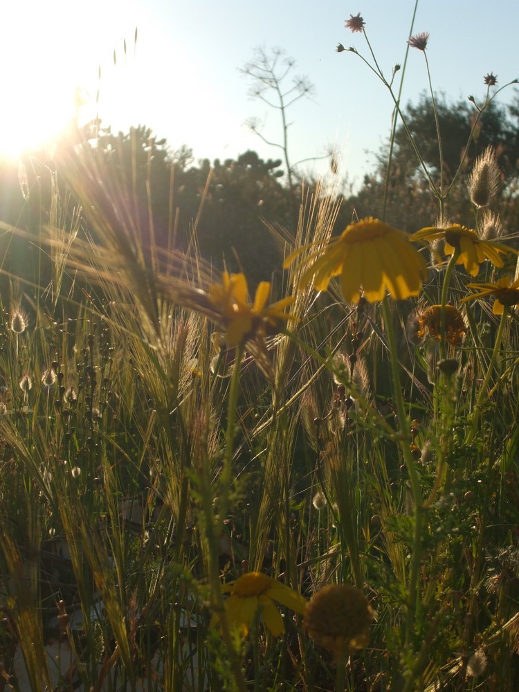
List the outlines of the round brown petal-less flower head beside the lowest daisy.
{"label": "round brown petal-less flower head beside the lowest daisy", "polygon": [[367,645],[374,611],[354,586],[331,584],[317,591],[304,611],[303,626],[318,646],[340,659]]}

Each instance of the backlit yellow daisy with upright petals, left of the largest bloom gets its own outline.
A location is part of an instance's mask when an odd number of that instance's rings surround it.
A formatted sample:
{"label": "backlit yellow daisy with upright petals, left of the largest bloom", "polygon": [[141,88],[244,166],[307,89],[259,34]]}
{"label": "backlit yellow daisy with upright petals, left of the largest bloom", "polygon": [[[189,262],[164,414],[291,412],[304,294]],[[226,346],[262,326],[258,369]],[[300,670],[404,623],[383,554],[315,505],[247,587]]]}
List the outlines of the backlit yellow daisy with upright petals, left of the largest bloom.
{"label": "backlit yellow daisy with upright petals, left of the largest bloom", "polygon": [[224,271],[221,284],[210,286],[208,298],[214,307],[226,334],[226,343],[236,346],[254,336],[277,334],[283,320],[295,319],[284,312],[293,298],[283,298],[265,307],[271,284],[262,281],[256,289],[254,302],[248,302],[247,280],[244,274]]}

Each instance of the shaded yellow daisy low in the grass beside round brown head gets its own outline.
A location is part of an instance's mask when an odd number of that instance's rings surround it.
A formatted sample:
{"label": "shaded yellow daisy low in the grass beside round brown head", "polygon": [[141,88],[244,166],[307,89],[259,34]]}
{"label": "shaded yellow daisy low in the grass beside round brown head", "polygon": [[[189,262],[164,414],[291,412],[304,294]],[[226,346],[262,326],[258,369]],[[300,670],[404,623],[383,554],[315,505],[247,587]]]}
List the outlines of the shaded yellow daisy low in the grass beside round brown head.
{"label": "shaded yellow daisy low in the grass beside round brown head", "polygon": [[[297,591],[262,572],[242,574],[236,581],[222,586],[221,590],[230,593],[230,597],[224,601],[229,626],[241,630],[244,637],[248,635],[258,610],[266,628],[274,637],[279,637],[284,634],[284,622],[275,603],[285,605],[300,615],[304,614],[307,605],[307,600]],[[215,613],[211,625],[215,626],[218,619]]]}

